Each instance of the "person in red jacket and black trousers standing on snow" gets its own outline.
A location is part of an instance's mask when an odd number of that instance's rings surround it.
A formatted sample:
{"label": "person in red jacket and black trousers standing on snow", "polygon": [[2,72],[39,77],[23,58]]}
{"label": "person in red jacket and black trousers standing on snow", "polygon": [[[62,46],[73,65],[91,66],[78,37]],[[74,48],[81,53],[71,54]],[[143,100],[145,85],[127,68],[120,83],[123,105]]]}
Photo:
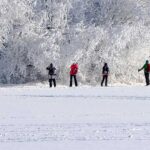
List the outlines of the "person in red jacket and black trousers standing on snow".
{"label": "person in red jacket and black trousers standing on snow", "polygon": [[78,86],[76,75],[78,73],[78,64],[73,63],[70,67],[70,87],[72,87],[72,79],[74,78],[75,86]]}

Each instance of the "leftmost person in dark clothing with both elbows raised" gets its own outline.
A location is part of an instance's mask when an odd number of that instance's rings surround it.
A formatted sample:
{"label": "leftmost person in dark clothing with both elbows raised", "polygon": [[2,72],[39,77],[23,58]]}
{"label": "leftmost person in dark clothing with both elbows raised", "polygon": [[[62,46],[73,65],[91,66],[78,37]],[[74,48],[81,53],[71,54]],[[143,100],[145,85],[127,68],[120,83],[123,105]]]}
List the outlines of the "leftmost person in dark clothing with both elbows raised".
{"label": "leftmost person in dark clothing with both elbows raised", "polygon": [[48,70],[48,75],[49,75],[49,86],[52,87],[52,82],[53,82],[54,87],[56,87],[56,79],[55,79],[56,68],[51,63],[46,69]]}

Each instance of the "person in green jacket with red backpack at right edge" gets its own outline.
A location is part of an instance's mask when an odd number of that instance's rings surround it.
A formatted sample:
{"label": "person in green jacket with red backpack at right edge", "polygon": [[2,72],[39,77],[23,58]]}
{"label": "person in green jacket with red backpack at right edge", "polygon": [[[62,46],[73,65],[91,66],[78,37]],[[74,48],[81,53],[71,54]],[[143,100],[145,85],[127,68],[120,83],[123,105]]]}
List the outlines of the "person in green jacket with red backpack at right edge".
{"label": "person in green jacket with red backpack at right edge", "polygon": [[146,60],[144,66],[141,69],[138,69],[138,72],[140,72],[141,70],[144,70],[146,86],[148,86],[150,84],[149,83],[150,82],[150,80],[149,80],[150,64],[149,64],[148,60]]}

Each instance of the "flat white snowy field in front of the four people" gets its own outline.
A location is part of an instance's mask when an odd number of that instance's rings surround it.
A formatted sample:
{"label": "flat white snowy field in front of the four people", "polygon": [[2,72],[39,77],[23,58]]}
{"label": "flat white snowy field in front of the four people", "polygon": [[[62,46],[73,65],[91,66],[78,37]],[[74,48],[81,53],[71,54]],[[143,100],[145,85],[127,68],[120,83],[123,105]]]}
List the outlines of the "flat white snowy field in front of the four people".
{"label": "flat white snowy field in front of the four people", "polygon": [[150,87],[1,87],[0,150],[150,150]]}

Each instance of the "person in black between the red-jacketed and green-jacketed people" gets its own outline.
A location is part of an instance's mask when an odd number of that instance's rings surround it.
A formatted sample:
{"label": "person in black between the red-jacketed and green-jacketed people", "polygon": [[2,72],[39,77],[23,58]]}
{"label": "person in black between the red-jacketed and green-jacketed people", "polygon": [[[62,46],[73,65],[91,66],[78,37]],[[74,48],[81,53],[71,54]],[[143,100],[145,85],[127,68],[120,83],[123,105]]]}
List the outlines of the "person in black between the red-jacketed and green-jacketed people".
{"label": "person in black between the red-jacketed and green-jacketed people", "polygon": [[107,86],[108,74],[109,74],[109,67],[108,67],[107,63],[104,63],[104,66],[103,66],[103,69],[102,69],[103,79],[102,79],[102,82],[101,82],[101,86],[103,86],[104,81],[105,81],[105,86]]}

